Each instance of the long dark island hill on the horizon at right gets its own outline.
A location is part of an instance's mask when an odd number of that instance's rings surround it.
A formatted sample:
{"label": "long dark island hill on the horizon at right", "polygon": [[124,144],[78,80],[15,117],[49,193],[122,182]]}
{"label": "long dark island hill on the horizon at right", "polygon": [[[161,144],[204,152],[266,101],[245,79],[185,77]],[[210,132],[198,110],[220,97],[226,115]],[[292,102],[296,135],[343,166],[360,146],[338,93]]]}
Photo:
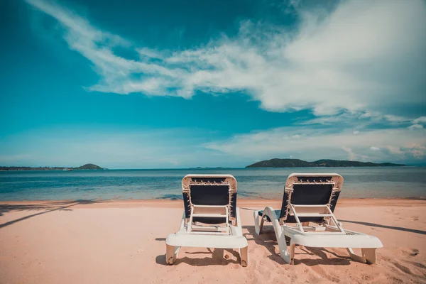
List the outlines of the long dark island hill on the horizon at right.
{"label": "long dark island hill on the horizon at right", "polygon": [[308,167],[398,167],[402,164],[358,162],[355,160],[316,160],[307,162],[299,159],[271,159],[262,160],[246,168],[308,168]]}

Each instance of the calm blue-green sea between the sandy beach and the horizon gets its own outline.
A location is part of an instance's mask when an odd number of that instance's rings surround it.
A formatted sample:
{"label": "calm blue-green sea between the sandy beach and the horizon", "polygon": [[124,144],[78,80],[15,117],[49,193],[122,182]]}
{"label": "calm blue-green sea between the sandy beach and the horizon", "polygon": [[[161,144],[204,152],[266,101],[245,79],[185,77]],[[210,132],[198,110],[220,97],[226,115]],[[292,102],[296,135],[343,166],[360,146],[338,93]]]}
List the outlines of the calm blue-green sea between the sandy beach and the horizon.
{"label": "calm blue-green sea between the sandy beach and the horizon", "polygon": [[339,173],[342,197],[426,197],[426,167],[0,172],[0,200],[175,199],[188,173],[229,173],[239,197],[282,198],[290,173]]}

